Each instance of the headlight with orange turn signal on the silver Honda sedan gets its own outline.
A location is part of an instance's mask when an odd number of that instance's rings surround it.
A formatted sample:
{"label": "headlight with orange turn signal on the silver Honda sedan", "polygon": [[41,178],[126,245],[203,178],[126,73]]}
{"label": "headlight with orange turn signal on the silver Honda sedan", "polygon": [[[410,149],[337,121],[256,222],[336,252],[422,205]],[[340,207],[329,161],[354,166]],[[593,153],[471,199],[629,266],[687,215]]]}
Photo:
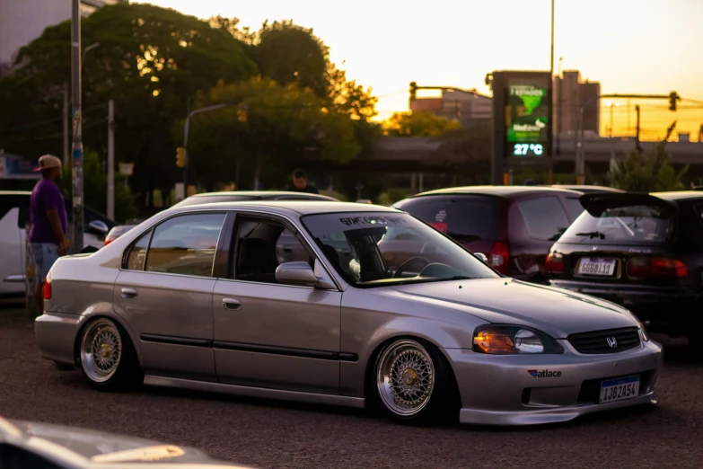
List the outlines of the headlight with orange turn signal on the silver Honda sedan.
{"label": "headlight with orange turn signal on the silver Honda sedan", "polygon": [[473,332],[473,350],[480,353],[511,355],[518,353],[564,353],[549,335],[530,327],[486,324]]}

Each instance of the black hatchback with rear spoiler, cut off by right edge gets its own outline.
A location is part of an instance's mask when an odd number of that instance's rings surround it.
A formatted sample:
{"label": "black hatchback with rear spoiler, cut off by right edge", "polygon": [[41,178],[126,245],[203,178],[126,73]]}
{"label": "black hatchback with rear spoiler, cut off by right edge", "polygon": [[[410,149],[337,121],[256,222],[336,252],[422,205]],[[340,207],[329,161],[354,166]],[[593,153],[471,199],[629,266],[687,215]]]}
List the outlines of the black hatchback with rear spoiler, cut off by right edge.
{"label": "black hatchback with rear spoiler, cut off by right edge", "polygon": [[551,248],[551,285],[628,307],[703,350],[703,193],[586,194]]}

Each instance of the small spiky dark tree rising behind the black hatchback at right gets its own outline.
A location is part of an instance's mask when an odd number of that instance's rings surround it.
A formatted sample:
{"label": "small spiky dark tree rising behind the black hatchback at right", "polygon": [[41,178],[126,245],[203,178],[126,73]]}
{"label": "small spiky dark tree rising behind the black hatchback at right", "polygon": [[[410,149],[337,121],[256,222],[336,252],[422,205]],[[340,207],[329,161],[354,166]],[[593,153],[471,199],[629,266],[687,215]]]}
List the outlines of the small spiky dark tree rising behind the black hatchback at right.
{"label": "small spiky dark tree rising behind the black hatchback at right", "polygon": [[669,163],[672,155],[666,151],[666,142],[657,143],[654,149],[641,154],[631,150],[624,160],[616,162],[609,174],[613,187],[635,192],[681,190],[681,178],[689,166],[676,171]]}

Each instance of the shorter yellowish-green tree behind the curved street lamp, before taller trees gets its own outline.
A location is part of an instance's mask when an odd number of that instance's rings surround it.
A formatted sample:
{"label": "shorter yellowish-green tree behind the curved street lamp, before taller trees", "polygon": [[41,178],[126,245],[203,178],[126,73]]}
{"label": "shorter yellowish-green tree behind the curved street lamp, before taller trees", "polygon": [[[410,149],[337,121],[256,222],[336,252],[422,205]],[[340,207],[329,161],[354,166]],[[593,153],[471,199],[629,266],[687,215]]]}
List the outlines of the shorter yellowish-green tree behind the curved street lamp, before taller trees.
{"label": "shorter yellowish-green tree behind the curved street lamp, before taller trees", "polygon": [[[207,188],[235,181],[238,159],[242,187],[262,180],[270,187],[282,184],[282,177],[287,180],[292,168],[286,166],[294,166],[306,153],[347,162],[361,150],[353,121],[323,108],[312,90],[296,84],[282,86],[266,78],[220,82],[197,106],[222,102],[233,107],[201,114],[190,128],[190,167]],[[237,104],[246,106],[246,121]],[[177,126],[175,135],[182,136],[182,129]]]}

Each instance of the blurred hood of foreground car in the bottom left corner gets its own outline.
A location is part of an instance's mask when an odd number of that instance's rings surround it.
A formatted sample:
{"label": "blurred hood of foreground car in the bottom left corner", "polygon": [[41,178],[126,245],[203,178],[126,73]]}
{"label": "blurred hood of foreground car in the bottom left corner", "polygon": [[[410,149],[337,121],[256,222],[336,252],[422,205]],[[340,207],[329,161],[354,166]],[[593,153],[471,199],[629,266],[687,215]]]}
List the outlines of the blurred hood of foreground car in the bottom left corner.
{"label": "blurred hood of foreground car in the bottom left corner", "polygon": [[148,439],[92,429],[0,418],[0,442],[3,441],[57,459],[67,467],[243,467],[215,461],[204,452],[191,447],[164,445]]}

